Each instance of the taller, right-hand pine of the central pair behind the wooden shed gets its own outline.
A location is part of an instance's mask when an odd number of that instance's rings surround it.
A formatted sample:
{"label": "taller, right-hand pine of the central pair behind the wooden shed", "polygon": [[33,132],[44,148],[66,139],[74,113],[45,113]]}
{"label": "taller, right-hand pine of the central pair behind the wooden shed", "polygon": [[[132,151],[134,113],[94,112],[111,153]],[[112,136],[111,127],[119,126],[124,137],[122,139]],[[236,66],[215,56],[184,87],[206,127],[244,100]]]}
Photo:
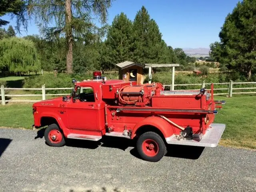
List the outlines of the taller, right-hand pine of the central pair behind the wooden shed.
{"label": "taller, right-hand pine of the central pair behind the wooden shed", "polygon": [[106,39],[106,47],[110,49],[113,64],[131,59],[132,22],[122,12],[115,16]]}

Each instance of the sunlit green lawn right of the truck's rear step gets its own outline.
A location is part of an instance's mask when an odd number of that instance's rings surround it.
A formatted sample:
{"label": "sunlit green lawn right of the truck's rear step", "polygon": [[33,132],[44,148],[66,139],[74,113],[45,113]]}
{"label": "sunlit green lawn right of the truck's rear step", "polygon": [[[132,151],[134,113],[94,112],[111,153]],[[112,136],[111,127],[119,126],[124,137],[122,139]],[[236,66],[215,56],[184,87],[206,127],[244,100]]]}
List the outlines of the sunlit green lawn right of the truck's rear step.
{"label": "sunlit green lawn right of the truck's rear step", "polygon": [[256,96],[218,96],[215,99],[226,100],[214,121],[226,124],[220,144],[256,149]]}

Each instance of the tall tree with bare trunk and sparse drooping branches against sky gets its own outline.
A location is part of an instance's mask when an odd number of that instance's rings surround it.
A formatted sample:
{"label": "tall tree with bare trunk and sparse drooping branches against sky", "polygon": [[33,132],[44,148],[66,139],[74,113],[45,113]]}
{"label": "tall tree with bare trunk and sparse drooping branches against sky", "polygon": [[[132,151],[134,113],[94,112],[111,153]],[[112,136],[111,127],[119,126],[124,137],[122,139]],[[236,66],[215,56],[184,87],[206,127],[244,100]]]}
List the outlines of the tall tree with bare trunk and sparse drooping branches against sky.
{"label": "tall tree with bare trunk and sparse drooping branches against sky", "polygon": [[101,36],[95,17],[104,24],[110,5],[111,0],[30,0],[28,8],[46,36],[66,37],[66,72],[72,73],[74,39]]}

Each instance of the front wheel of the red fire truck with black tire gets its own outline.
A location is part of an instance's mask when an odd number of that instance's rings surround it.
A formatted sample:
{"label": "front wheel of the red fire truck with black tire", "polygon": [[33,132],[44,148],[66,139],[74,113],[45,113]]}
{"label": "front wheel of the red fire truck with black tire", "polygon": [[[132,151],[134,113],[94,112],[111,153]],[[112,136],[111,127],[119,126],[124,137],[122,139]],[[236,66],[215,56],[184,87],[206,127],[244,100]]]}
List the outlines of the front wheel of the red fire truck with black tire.
{"label": "front wheel of the red fire truck with black tire", "polygon": [[53,147],[62,147],[66,143],[63,133],[56,124],[51,124],[46,128],[44,132],[44,139],[48,145]]}

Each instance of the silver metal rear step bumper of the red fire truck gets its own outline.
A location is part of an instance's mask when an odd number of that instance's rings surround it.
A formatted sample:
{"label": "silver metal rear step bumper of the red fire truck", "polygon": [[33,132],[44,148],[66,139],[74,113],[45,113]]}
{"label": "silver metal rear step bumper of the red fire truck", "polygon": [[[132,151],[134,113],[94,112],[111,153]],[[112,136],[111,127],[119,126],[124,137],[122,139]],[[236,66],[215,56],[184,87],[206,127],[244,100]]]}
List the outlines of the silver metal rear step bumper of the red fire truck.
{"label": "silver metal rear step bumper of the red fire truck", "polygon": [[206,130],[206,133],[203,135],[200,141],[196,140],[177,140],[175,135],[172,135],[166,139],[168,144],[176,145],[189,145],[189,146],[200,146],[200,147],[216,147],[220,142],[220,138],[226,128],[225,124],[213,123]]}

